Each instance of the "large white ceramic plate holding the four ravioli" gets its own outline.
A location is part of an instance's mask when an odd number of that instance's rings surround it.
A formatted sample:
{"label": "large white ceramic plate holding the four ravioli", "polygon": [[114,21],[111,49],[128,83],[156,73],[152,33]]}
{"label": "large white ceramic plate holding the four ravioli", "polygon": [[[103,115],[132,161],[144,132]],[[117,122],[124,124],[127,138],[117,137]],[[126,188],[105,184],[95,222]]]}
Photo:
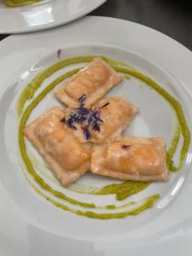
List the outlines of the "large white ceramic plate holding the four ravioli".
{"label": "large white ceramic plate holding the four ravioli", "polygon": [[[28,81],[39,71],[58,61],[57,49],[62,49],[62,59],[91,54],[107,55],[130,63],[177,98],[183,106],[189,129],[192,130],[192,74],[189,72],[192,54],[160,32],[125,20],[86,17],[55,30],[6,38],[0,44],[0,254],[190,255],[191,145],[182,170],[172,173],[168,183],[153,184],[126,199],[139,200],[147,195],[160,193],[160,200],[152,209],[134,217],[103,221],[63,212],[45,201],[26,182],[20,167],[15,104]],[[43,87],[58,75],[56,73],[47,79]],[[167,144],[170,143],[175,117],[172,108],[154,90],[131,79],[111,90],[108,95],[123,96],[140,109],[125,134],[161,136],[166,139]],[[31,119],[54,103],[59,104],[50,93],[34,110]],[[31,146],[27,144],[27,147]],[[45,172],[49,174],[47,169]],[[44,173],[40,175],[44,177]],[[79,195],[62,189],[49,177],[47,182],[78,200],[94,201],[98,205],[115,202],[114,197],[109,195]],[[112,183],[112,179],[88,174],[78,183],[100,187]]]}

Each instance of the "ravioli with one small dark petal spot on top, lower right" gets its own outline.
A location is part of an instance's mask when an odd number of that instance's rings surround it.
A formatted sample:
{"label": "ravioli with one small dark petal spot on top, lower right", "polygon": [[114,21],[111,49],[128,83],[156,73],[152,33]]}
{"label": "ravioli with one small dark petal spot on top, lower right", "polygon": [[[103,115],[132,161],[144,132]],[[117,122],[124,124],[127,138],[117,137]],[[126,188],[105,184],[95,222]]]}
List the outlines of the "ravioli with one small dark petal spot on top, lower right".
{"label": "ravioli with one small dark petal spot on top, lower right", "polygon": [[167,181],[166,144],[160,137],[122,137],[92,148],[91,172],[122,180]]}

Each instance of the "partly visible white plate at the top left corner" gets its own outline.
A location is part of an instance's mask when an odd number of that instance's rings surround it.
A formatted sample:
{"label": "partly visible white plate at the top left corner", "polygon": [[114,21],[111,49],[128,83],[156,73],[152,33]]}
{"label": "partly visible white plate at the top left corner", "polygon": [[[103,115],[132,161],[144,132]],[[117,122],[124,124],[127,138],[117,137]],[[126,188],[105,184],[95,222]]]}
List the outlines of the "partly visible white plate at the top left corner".
{"label": "partly visible white plate at the top left corner", "polygon": [[8,8],[0,0],[0,33],[34,32],[61,26],[89,14],[107,0],[44,0]]}

